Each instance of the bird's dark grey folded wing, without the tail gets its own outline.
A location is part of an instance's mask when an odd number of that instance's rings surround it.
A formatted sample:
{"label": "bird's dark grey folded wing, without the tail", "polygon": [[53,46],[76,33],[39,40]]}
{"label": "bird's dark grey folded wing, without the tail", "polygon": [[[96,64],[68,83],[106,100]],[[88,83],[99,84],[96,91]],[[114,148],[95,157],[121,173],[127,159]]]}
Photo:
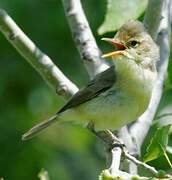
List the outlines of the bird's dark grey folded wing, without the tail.
{"label": "bird's dark grey folded wing, without the tail", "polygon": [[104,72],[96,75],[85,88],[82,88],[74,94],[74,96],[72,96],[71,99],[62,107],[62,109],[60,109],[58,114],[97,97],[102,92],[111,88],[115,81],[116,76],[114,66],[112,66]]}

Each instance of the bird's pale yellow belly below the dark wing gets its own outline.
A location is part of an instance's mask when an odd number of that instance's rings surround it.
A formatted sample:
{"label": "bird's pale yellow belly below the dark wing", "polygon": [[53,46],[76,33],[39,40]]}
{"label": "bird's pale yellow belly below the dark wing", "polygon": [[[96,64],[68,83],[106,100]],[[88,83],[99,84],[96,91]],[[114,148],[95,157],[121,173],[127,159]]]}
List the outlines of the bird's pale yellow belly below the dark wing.
{"label": "bird's pale yellow belly below the dark wing", "polygon": [[80,105],[75,112],[80,115],[81,121],[92,121],[96,130],[115,130],[136,120],[140,115],[138,101],[135,96],[117,90],[109,91]]}

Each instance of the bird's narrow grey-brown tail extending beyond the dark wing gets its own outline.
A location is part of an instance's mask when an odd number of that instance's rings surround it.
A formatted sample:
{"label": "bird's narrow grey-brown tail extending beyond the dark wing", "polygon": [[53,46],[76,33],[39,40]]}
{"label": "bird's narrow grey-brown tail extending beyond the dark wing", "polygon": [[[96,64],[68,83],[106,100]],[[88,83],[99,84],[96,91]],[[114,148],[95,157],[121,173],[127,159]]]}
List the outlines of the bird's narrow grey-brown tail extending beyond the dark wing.
{"label": "bird's narrow grey-brown tail extending beyond the dark wing", "polygon": [[31,128],[29,131],[27,131],[25,134],[23,134],[22,140],[25,141],[25,140],[31,139],[34,136],[36,136],[39,132],[41,132],[42,130],[44,130],[45,128],[47,128],[48,126],[53,124],[54,122],[56,122],[58,120],[57,116],[58,115],[56,114],[56,115],[52,116],[50,119],[45,120],[45,121],[37,124],[33,128]]}

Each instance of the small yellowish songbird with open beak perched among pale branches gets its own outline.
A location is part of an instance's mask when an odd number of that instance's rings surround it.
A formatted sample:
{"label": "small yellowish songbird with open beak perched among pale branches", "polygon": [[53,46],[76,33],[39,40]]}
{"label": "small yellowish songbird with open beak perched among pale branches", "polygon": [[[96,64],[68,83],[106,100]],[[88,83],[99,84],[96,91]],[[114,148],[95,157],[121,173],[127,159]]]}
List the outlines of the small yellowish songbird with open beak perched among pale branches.
{"label": "small yellowish songbird with open beak perched among pale branches", "polygon": [[137,20],[127,21],[113,38],[102,40],[114,48],[102,55],[113,65],[97,74],[54,116],[26,132],[22,140],[57,121],[92,123],[96,131],[118,130],[144,113],[157,78],[158,46]]}

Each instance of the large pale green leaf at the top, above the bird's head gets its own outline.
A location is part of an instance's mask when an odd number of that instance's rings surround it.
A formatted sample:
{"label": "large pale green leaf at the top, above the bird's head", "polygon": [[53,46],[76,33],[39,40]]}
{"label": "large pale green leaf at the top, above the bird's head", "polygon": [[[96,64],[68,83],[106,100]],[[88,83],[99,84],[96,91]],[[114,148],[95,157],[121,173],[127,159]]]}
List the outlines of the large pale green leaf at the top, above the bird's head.
{"label": "large pale green leaf at the top, above the bird's head", "polygon": [[129,19],[138,18],[147,5],[147,0],[107,0],[107,12],[98,33],[115,31]]}

